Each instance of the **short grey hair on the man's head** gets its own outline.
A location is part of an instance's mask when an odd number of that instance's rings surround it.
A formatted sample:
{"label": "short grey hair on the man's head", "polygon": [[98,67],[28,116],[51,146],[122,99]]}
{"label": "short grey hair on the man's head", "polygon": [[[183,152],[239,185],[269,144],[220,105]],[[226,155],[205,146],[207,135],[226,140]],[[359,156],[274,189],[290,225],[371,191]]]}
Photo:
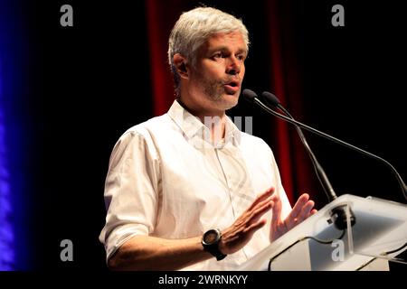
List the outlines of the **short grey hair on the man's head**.
{"label": "short grey hair on the man's head", "polygon": [[175,92],[179,96],[180,76],[175,68],[174,55],[180,53],[195,65],[194,53],[214,33],[239,31],[249,51],[249,32],[246,26],[231,14],[212,7],[198,7],[181,14],[168,40],[168,63],[173,72]]}

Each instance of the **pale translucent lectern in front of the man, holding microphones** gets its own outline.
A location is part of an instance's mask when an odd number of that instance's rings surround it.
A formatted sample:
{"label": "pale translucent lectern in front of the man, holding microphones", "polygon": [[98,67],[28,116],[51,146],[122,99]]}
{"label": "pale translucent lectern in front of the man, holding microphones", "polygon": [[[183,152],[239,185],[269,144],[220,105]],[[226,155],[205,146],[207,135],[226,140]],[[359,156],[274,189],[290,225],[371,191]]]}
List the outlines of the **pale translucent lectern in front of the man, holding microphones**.
{"label": "pale translucent lectern in front of the man, holding microphones", "polygon": [[[355,225],[348,218],[345,230],[330,222],[330,211],[340,205],[355,215]],[[406,242],[407,205],[347,194],[289,230],[238,270],[388,270],[389,261],[405,264],[395,256],[407,249]]]}

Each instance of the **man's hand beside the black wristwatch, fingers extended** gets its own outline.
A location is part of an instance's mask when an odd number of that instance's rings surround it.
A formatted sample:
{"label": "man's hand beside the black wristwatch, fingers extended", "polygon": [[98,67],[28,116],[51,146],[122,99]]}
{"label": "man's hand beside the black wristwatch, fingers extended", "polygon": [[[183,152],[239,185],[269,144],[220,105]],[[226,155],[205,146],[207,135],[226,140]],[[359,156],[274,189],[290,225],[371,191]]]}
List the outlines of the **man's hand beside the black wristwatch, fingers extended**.
{"label": "man's hand beside the black wristwatch, fingers extended", "polygon": [[273,192],[274,188],[270,188],[260,194],[249,209],[222,232],[222,240],[219,243],[222,254],[228,255],[240,250],[251,240],[254,232],[266,224],[267,220],[260,218],[274,206],[271,200]]}

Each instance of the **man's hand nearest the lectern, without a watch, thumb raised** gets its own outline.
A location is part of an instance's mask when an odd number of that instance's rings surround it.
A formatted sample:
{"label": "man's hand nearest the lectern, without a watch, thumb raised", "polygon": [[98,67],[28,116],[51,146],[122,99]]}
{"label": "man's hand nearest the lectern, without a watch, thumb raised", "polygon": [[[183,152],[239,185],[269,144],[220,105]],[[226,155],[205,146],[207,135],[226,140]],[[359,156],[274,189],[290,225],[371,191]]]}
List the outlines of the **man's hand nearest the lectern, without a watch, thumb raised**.
{"label": "man's hand nearest the lectern, without a watch, thumb raised", "polygon": [[303,193],[298,198],[294,208],[286,219],[281,219],[281,200],[279,199],[279,195],[274,194],[271,197],[271,200],[274,203],[270,227],[271,242],[317,212],[317,210],[313,209],[315,204],[314,201],[309,200],[309,195],[307,193]]}

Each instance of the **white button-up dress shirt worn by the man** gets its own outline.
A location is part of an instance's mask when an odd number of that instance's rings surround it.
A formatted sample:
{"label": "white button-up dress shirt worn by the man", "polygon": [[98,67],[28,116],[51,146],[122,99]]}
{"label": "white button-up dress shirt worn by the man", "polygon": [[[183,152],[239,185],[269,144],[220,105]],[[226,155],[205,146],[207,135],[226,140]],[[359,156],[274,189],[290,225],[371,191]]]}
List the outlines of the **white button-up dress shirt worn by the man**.
{"label": "white button-up dress shirt worn by the man", "polygon": [[[232,225],[271,186],[291,210],[270,147],[241,132],[226,117],[224,141],[205,141],[209,130],[176,100],[168,113],[133,126],[115,145],[105,184],[108,210],[99,239],[107,259],[136,235],[193,238]],[[240,251],[185,270],[232,270],[270,244],[271,212]]]}

